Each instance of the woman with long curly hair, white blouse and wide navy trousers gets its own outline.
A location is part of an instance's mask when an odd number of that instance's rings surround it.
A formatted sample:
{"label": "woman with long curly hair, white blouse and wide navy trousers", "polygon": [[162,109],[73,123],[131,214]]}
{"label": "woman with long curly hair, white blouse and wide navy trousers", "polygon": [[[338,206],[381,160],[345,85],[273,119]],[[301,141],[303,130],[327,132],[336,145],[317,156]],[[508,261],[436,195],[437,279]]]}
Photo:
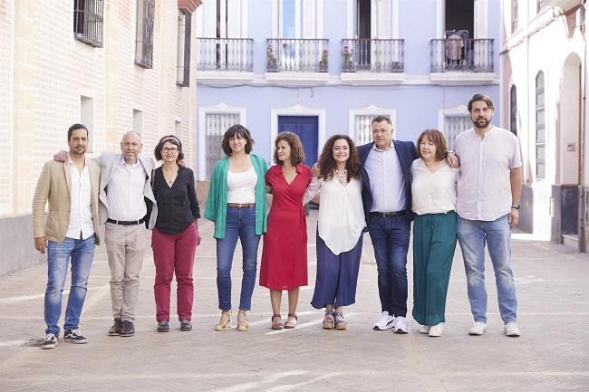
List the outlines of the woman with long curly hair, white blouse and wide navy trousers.
{"label": "woman with long curly hair, white blouse and wide navy trousers", "polygon": [[303,203],[321,191],[317,219],[317,278],[311,305],[325,308],[323,328],[345,330],[343,307],[356,301],[362,255],[362,182],[352,139],[334,135],[323,146]]}

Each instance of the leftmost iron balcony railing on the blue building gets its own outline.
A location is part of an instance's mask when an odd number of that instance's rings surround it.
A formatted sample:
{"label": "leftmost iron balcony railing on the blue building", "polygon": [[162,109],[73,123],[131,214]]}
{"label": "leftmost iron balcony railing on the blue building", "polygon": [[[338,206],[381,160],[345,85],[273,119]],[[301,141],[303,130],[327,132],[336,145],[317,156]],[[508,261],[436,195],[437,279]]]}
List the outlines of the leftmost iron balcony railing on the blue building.
{"label": "leftmost iron balcony railing on the blue building", "polygon": [[198,71],[253,72],[251,38],[197,38]]}

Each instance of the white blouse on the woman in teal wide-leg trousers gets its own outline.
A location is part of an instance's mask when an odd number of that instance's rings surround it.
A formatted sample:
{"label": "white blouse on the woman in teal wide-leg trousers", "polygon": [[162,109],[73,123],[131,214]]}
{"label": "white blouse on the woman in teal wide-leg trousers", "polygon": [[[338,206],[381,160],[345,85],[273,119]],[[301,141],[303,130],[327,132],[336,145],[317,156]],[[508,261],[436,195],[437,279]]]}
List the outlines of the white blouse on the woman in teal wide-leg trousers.
{"label": "white blouse on the woman in teal wide-leg trousers", "polygon": [[416,159],[411,165],[411,177],[411,209],[415,214],[445,214],[456,210],[458,167],[449,167],[444,162],[430,173],[423,159]]}

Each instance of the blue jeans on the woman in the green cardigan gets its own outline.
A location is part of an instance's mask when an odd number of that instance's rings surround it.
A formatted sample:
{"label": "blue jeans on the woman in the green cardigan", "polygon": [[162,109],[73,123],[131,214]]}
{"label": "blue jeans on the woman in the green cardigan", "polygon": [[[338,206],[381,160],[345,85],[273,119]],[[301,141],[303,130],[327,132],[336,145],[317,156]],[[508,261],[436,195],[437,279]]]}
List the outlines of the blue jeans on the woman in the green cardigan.
{"label": "blue jeans on the woman in the green cardigan", "polygon": [[243,253],[243,278],[239,309],[249,311],[252,307],[252,293],[256,285],[257,245],[260,235],[256,235],[256,207],[227,206],[225,238],[217,239],[217,293],[219,309],[231,309],[231,265],[236,251],[237,238]]}

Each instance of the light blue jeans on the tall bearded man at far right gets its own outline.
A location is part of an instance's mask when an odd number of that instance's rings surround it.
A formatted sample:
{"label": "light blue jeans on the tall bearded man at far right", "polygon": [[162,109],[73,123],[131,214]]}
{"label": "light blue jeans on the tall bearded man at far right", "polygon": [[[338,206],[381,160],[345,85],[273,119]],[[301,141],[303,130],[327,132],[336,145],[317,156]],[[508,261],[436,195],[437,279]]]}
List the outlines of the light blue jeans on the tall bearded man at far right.
{"label": "light blue jeans on the tall bearded man at far right", "polygon": [[494,221],[471,221],[459,217],[457,234],[467,273],[470,311],[475,321],[487,322],[485,242],[495,271],[501,319],[506,324],[516,321],[516,284],[511,271],[511,230],[507,215]]}

